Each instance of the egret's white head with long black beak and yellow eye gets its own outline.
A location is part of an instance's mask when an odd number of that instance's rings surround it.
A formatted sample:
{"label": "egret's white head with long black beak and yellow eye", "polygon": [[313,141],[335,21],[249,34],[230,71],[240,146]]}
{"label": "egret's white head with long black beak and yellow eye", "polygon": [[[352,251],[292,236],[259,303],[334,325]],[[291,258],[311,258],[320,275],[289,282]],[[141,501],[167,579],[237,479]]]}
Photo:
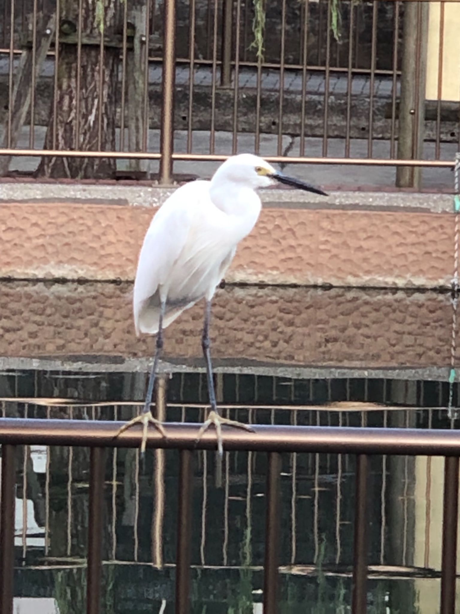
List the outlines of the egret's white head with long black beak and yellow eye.
{"label": "egret's white head with long black beak and yellow eye", "polygon": [[277,182],[292,185],[293,187],[307,192],[314,192],[327,196],[323,190],[313,187],[300,179],[287,177],[279,173],[272,165],[263,158],[259,158],[251,153],[240,153],[228,158],[215,172],[213,179],[215,187],[226,183],[241,185],[242,187],[266,188]]}

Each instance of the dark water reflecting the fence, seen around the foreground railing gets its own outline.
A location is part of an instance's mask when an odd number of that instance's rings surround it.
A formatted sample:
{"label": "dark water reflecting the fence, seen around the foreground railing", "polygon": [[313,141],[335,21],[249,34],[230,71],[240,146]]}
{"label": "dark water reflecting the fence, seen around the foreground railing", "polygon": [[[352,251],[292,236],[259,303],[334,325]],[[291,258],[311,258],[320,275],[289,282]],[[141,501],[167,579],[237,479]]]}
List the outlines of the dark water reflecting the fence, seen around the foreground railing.
{"label": "dark water reflecting the fence, seen around the foreground railing", "polygon": [[[6,373],[2,414],[126,420],[137,414],[144,386],[144,374]],[[200,375],[178,374],[159,386],[168,395],[167,407],[157,397],[160,417],[202,421]],[[435,382],[219,375],[217,391],[226,414],[248,423],[455,427],[439,409],[447,389]],[[320,407],[341,401],[367,403],[369,411]],[[375,402],[385,409],[369,405]],[[172,613],[178,454],[148,451],[144,464],[137,449],[113,449],[105,461],[103,611]],[[194,462],[192,611],[261,612],[266,454],[225,453],[220,467],[215,453],[199,451]],[[442,459],[375,456],[370,468],[369,612],[434,613]],[[88,473],[87,449],[21,450],[15,591],[44,599],[37,614],[55,604],[60,614],[85,610]],[[280,612],[349,612],[355,457],[283,454],[281,488]]]}

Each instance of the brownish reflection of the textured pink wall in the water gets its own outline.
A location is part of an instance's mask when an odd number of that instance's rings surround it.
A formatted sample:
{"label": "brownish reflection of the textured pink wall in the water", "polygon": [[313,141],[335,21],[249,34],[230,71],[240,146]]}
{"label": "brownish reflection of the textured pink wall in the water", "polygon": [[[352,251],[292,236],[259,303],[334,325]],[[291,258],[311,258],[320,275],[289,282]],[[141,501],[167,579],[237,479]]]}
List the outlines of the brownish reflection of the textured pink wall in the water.
{"label": "brownish reflection of the textured pink wall in the water", "polygon": [[[134,333],[131,284],[2,282],[0,309],[0,356],[8,359],[118,369],[131,361],[129,370],[137,370],[153,351],[153,338]],[[165,360],[174,370],[203,366],[202,311],[199,303],[167,328]],[[448,294],[227,287],[215,297],[212,351],[216,366],[232,371],[424,370],[439,376],[450,364],[451,321]],[[458,333],[456,341],[460,354]]]}

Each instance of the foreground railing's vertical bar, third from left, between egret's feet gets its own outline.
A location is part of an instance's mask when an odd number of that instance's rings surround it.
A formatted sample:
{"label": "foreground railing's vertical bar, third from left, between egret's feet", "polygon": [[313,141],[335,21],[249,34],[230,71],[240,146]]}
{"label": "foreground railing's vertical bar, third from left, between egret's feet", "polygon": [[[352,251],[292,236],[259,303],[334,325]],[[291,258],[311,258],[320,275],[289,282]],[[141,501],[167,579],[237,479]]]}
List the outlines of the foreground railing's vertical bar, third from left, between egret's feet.
{"label": "foreground railing's vertical bar, third from left, between egret's feet", "polygon": [[177,515],[175,612],[188,614],[190,605],[190,548],[193,489],[193,457],[190,449],[180,453]]}

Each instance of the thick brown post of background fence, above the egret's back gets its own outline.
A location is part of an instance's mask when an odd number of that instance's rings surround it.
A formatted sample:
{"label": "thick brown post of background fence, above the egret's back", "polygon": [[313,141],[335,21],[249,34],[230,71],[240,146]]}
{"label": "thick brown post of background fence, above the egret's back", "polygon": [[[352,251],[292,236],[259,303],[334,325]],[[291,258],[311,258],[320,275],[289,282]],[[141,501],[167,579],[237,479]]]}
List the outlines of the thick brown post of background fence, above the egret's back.
{"label": "thick brown post of background fence, above the egret's back", "polygon": [[163,22],[163,88],[161,103],[161,136],[159,182],[172,182],[172,152],[174,150],[174,87],[175,87],[175,0],[164,2]]}

